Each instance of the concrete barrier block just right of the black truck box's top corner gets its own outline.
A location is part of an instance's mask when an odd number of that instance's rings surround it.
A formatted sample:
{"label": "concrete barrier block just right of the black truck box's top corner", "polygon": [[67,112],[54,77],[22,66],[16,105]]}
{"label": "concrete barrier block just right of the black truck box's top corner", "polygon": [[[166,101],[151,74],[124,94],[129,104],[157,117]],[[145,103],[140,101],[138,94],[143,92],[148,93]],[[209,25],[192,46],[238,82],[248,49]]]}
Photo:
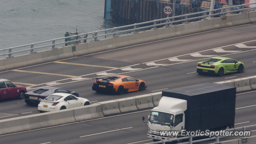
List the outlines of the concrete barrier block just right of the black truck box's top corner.
{"label": "concrete barrier block just right of the black truck box's top corner", "polygon": [[250,86],[249,78],[238,78],[230,81],[234,82],[234,86],[236,87],[236,92],[244,92],[247,90],[252,90]]}

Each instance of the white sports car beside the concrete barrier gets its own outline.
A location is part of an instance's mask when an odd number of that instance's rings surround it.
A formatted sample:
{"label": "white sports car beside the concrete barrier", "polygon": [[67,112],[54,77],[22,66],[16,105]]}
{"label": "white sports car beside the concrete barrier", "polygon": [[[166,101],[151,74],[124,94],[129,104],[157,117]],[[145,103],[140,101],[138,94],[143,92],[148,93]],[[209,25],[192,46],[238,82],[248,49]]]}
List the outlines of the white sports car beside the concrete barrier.
{"label": "white sports car beside the concrete barrier", "polygon": [[39,100],[38,111],[40,112],[51,112],[90,104],[86,98],[75,97],[72,94],[65,93],[54,93],[45,99]]}

